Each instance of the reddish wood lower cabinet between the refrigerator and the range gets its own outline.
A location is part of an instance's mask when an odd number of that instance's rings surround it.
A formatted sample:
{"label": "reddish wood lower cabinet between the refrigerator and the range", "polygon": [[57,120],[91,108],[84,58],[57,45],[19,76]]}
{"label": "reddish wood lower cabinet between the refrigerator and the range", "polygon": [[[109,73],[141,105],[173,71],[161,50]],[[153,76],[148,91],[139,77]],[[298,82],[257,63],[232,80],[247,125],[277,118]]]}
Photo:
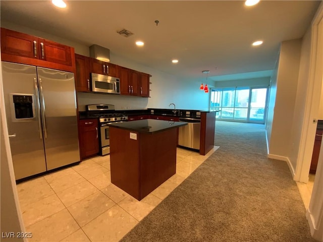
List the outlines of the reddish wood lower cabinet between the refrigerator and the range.
{"label": "reddish wood lower cabinet between the refrigerator and the range", "polygon": [[85,159],[99,153],[97,119],[79,120],[79,138],[81,159]]}

